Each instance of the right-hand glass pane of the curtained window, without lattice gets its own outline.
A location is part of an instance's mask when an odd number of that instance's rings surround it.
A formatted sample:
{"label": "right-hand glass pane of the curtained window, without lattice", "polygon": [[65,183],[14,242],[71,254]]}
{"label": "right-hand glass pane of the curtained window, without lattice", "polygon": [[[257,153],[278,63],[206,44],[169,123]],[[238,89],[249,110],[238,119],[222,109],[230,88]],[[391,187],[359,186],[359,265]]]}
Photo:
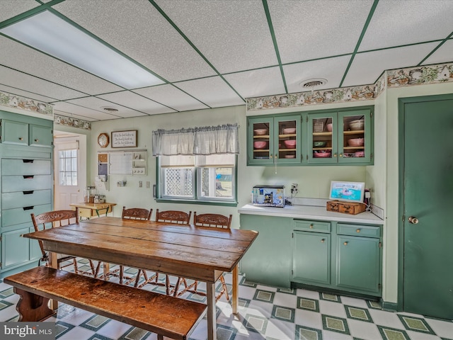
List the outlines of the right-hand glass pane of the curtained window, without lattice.
{"label": "right-hand glass pane of the curtained window, without lattice", "polygon": [[200,198],[232,199],[234,193],[234,168],[202,168]]}

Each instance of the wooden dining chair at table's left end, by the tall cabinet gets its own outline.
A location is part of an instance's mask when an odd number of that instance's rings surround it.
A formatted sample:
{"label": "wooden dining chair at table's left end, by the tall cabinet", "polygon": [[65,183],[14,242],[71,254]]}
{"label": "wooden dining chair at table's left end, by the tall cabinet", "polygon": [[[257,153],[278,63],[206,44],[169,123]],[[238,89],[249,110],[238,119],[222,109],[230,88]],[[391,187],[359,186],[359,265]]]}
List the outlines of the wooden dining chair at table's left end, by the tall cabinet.
{"label": "wooden dining chair at table's left end, by the tall cabinet", "polygon": [[[33,227],[35,227],[35,232],[44,229],[61,227],[63,225],[69,225],[71,223],[79,223],[79,208],[76,208],[76,210],[53,210],[49,212],[42,212],[42,214],[39,215],[32,213],[31,220],[33,222]],[[39,240],[38,242],[42,252],[40,262],[45,261],[45,265],[49,266],[49,254],[44,250],[42,241]],[[96,278],[99,273],[101,261],[98,261],[96,267],[94,266],[94,263],[91,259],[88,259],[88,263],[90,265],[91,272],[82,271],[81,269],[79,269],[76,256],[57,254],[57,268],[62,269],[68,266],[74,266],[74,273],[89,275]]]}

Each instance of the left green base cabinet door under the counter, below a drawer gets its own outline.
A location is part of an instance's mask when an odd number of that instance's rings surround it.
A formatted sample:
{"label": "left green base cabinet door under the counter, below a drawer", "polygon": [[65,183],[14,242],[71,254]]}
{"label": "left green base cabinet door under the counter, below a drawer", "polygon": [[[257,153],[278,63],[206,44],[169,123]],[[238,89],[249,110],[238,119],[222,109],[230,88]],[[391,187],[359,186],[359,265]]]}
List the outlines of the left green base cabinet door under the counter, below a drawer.
{"label": "left green base cabinet door under the counter, below a drawer", "polygon": [[294,231],[292,280],[331,283],[331,235]]}

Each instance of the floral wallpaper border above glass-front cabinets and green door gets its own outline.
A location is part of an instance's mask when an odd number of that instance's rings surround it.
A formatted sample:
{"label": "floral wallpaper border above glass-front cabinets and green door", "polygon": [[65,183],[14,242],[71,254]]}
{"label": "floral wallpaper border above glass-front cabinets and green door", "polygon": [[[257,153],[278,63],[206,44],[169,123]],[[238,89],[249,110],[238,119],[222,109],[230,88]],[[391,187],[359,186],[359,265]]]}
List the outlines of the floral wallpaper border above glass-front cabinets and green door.
{"label": "floral wallpaper border above glass-front cabinets and green door", "polygon": [[453,63],[391,69],[384,72],[376,83],[370,85],[246,98],[246,110],[261,111],[323,103],[367,101],[377,98],[385,89],[392,87],[439,84],[449,81],[453,81]]}

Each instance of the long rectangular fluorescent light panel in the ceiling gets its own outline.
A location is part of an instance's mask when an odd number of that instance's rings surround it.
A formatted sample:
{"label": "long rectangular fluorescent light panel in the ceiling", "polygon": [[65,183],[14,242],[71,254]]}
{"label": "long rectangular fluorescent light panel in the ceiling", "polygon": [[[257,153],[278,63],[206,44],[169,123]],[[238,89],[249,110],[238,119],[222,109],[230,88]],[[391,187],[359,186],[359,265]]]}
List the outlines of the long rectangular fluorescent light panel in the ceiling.
{"label": "long rectangular fluorescent light panel in the ceiling", "polygon": [[13,23],[0,32],[126,89],[164,83],[50,11]]}

